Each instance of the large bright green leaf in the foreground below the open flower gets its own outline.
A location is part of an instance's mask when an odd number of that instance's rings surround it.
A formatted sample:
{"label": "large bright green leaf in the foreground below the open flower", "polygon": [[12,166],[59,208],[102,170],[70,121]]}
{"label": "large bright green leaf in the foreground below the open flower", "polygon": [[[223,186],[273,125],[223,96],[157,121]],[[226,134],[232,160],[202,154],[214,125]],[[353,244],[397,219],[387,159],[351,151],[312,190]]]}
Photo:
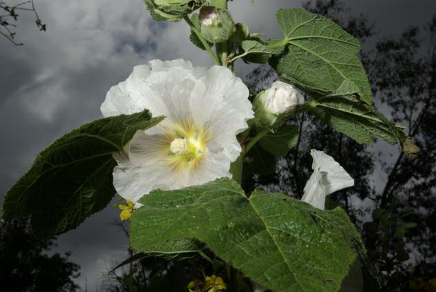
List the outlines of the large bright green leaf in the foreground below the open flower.
{"label": "large bright green leaf in the foreground below the open flower", "polygon": [[196,238],[251,280],[276,292],[338,291],[361,240],[340,208],[319,210],[278,193],[248,199],[236,181],[156,190],[131,218],[130,244],[148,250]]}

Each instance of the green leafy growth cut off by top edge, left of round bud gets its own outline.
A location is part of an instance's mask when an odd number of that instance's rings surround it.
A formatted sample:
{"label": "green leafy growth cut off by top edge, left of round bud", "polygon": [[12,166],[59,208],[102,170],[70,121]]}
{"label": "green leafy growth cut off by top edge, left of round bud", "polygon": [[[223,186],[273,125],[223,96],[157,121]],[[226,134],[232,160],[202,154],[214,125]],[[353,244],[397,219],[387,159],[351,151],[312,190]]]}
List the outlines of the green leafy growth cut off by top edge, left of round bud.
{"label": "green leafy growth cut off by top edge, left of round bud", "polygon": [[145,0],[157,21],[181,21],[183,16],[200,8],[206,0]]}

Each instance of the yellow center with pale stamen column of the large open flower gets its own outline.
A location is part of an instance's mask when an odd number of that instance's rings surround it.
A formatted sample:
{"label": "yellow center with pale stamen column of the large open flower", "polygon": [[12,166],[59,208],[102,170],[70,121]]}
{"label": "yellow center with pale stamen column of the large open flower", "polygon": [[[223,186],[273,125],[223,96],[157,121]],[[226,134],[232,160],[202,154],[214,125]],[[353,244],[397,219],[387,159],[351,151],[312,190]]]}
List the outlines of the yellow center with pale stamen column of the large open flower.
{"label": "yellow center with pale stamen column of the large open flower", "polygon": [[193,122],[183,122],[174,124],[165,136],[168,141],[165,162],[172,170],[193,171],[200,168],[210,139],[207,129],[198,128]]}

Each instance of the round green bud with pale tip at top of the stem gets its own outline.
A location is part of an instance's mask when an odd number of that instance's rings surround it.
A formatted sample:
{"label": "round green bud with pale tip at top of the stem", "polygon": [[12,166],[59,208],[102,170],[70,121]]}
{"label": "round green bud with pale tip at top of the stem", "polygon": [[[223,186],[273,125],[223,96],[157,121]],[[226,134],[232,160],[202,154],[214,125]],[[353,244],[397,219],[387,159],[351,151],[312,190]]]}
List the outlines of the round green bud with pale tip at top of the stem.
{"label": "round green bud with pale tip at top of the stem", "polygon": [[201,34],[209,43],[227,41],[235,30],[235,24],[227,10],[221,10],[214,6],[203,6],[198,18],[200,19]]}

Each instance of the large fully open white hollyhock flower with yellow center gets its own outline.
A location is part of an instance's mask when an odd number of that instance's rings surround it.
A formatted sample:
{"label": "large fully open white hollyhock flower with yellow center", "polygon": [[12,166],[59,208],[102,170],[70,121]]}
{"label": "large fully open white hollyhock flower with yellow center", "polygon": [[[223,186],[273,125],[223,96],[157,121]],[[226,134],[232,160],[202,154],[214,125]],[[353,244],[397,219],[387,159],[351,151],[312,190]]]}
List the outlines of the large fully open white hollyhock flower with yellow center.
{"label": "large fully open white hollyhock flower with yellow center", "polygon": [[236,135],[253,118],[249,89],[226,67],[192,67],[189,61],[152,60],[112,87],[105,117],[148,109],[165,115],[157,126],[137,131],[125,152],[115,155],[117,192],[137,202],[151,190],[175,190],[231,177],[240,155]]}

